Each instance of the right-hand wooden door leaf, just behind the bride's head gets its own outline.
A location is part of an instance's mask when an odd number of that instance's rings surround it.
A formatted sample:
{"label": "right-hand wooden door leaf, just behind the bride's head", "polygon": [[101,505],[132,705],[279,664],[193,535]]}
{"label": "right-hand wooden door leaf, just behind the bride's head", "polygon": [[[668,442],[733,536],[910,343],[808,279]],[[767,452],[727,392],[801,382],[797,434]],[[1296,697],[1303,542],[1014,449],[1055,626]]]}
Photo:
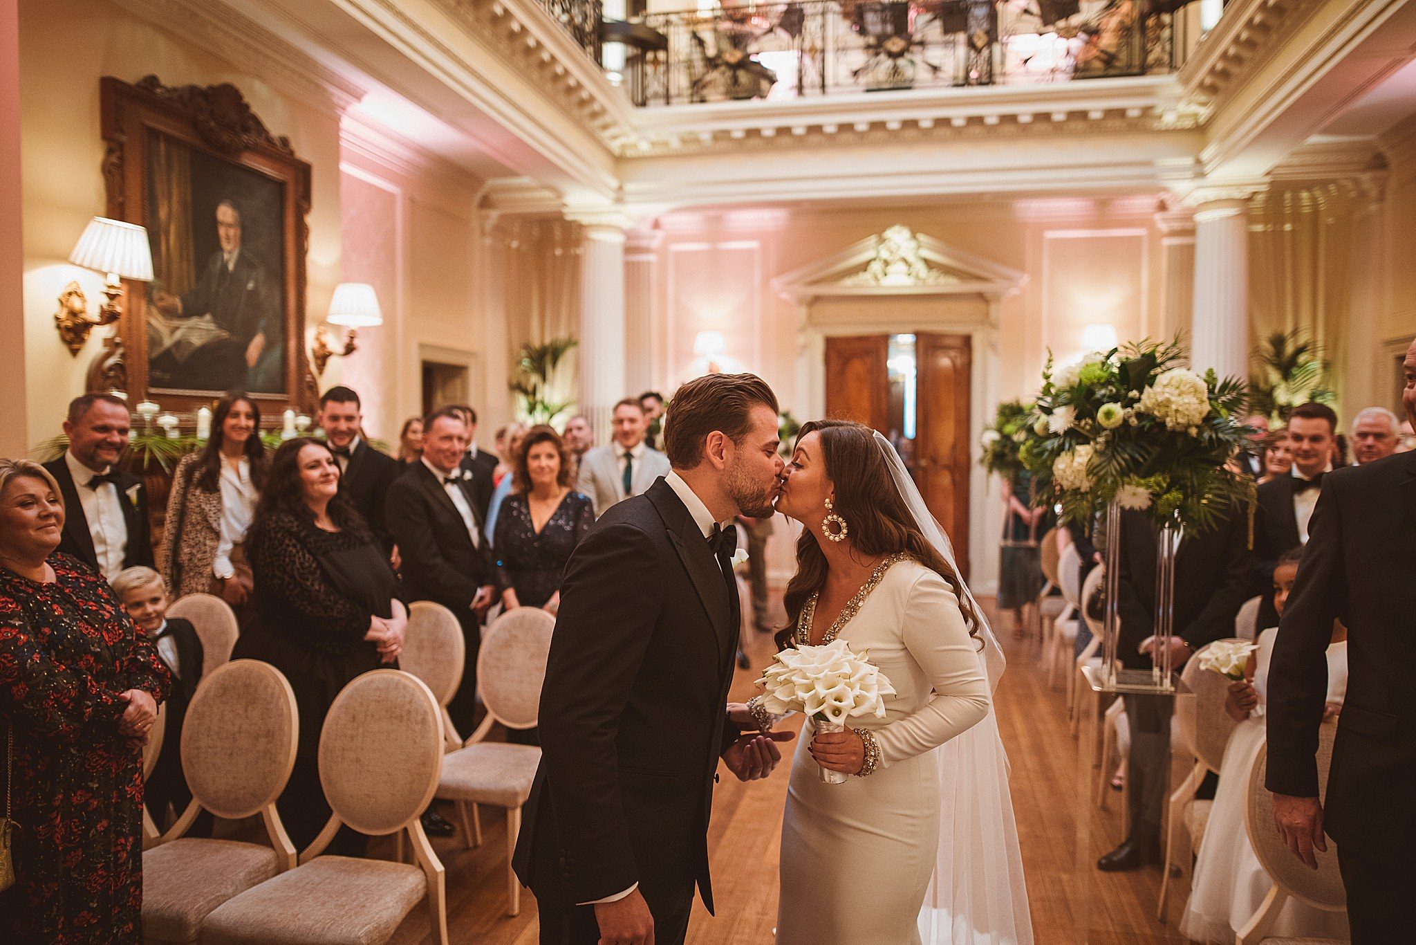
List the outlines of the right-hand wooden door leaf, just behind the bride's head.
{"label": "right-hand wooden door leaf, just behind the bride's head", "polygon": [[973,353],[966,334],[916,336],[919,419],[915,479],[925,504],[949,533],[969,577],[969,391]]}

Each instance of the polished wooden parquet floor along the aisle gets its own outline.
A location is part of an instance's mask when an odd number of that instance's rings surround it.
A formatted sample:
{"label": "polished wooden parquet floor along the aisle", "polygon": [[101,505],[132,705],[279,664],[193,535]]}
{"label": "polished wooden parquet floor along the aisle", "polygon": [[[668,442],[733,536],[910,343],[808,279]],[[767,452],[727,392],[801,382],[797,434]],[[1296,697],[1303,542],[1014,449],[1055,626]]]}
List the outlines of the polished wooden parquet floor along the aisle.
{"label": "polished wooden parquet floor along the aisle", "polygon": [[[780,612],[780,605],[775,601]],[[988,602],[986,602],[987,605]],[[772,642],[749,633],[753,667],[767,663]],[[1066,721],[1066,697],[1046,687],[1027,642],[1007,639],[1008,672],[997,693],[1004,744],[1012,764],[1012,802],[1022,846],[1032,924],[1038,945],[1153,945],[1182,942],[1174,927],[1155,921],[1161,873],[1102,874],[1090,866],[1120,837],[1120,796],[1090,822],[1090,846],[1079,857],[1076,810],[1078,742]],[[739,670],[732,697],[755,690],[758,672]],[[726,775],[714,795],[709,839],[718,915],[695,904],[692,945],[770,945],[776,925],[777,830],[787,766],[766,781],[743,785]],[[453,942],[535,945],[535,900],[523,890],[521,914],[506,915],[506,822],[483,809],[483,844],[463,850],[455,837],[433,842],[447,868],[447,928]],[[392,843],[375,842],[372,856],[391,857]],[[1080,864],[1080,867],[1079,867]],[[1182,897],[1171,894],[1171,915]],[[426,908],[415,908],[392,939],[396,945],[433,942]],[[830,945],[823,942],[821,945]],[[882,942],[881,945],[891,945]]]}

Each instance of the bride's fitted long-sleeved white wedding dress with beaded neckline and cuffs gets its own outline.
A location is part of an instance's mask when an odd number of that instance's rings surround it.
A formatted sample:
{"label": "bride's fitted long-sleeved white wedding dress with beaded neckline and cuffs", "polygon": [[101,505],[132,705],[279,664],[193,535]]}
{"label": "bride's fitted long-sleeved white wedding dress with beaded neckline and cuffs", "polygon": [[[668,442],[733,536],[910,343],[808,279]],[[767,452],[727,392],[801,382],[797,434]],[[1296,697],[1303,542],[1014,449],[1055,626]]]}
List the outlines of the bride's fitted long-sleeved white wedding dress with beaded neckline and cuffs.
{"label": "bride's fitted long-sleeved white wedding dress with beaded neckline and cuffs", "polygon": [[[814,604],[803,611],[807,626],[813,611]],[[847,723],[874,731],[879,742],[868,778],[823,782],[807,751],[810,720],[801,731],[782,822],[777,944],[918,945],[922,925],[937,922],[936,911],[922,907],[939,867],[940,819],[959,803],[957,785],[944,785],[949,796],[942,796],[939,747],[986,717],[994,724],[980,640],[969,635],[949,584],[912,558],[886,560],[831,629],[854,652],[868,652],[895,696],[885,701],[885,718]],[[1011,826],[1011,806],[1007,820]],[[946,825],[961,844],[976,826]],[[981,863],[973,868],[983,887],[990,877]],[[960,878],[936,877],[936,885],[949,885],[946,905]],[[1001,894],[1011,898],[1012,890]],[[953,921],[946,917],[946,924]],[[1004,939],[959,938],[953,929],[930,941]]]}

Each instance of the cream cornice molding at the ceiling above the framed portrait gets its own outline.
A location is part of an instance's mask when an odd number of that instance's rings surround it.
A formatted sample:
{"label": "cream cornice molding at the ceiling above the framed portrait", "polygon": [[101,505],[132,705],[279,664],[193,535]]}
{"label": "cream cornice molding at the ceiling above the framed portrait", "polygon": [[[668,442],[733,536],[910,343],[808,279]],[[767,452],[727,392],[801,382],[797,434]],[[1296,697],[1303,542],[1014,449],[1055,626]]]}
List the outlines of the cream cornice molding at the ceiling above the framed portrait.
{"label": "cream cornice molding at the ceiling above the framed portrait", "polygon": [[364,98],[367,89],[304,54],[278,34],[211,0],[113,0],[123,10],[147,20],[272,88],[323,106],[340,116]]}

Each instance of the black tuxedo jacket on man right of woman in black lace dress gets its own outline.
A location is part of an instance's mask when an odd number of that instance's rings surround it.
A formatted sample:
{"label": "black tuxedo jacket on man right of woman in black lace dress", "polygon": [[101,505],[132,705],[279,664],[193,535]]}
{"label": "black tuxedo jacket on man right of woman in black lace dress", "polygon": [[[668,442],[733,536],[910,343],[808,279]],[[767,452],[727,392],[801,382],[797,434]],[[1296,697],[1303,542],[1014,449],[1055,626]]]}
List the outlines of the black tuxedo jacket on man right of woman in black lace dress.
{"label": "black tuxedo jacket on man right of woman in black lace dress", "polygon": [[[483,528],[477,503],[466,485],[459,486],[472,504],[477,530]],[[494,584],[490,541],[472,544],[467,526],[442,482],[423,463],[415,463],[394,480],[384,499],[389,537],[402,557],[404,589],[411,601],[436,601],[463,619],[484,584]]]}

